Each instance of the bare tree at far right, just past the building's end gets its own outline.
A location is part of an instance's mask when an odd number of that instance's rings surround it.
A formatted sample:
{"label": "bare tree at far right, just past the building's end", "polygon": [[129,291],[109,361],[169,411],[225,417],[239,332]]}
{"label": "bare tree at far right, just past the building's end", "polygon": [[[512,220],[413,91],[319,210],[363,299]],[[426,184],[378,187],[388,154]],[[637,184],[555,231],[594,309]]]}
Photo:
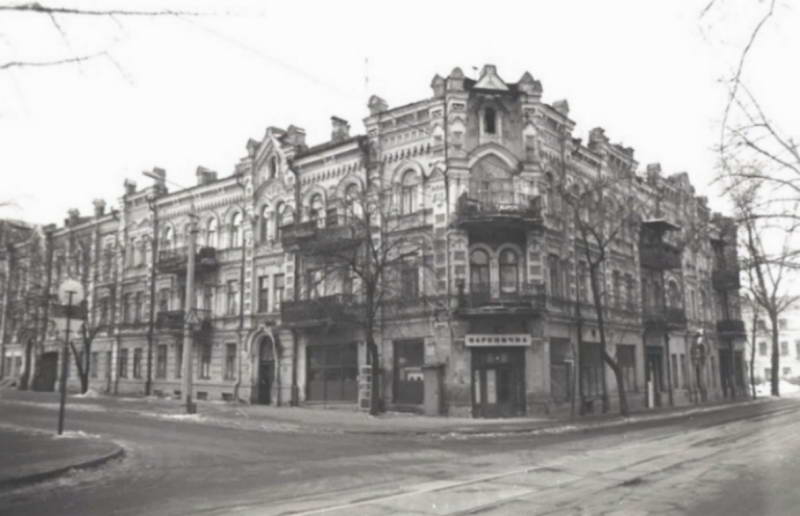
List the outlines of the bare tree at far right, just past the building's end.
{"label": "bare tree at far right, just past the building's end", "polygon": [[[737,221],[744,230],[742,262],[750,279],[748,290],[753,301],[754,312],[756,306],[760,307],[770,321],[772,336],[770,392],[773,396],[779,396],[779,317],[792,304],[800,300],[800,296],[786,293],[787,278],[791,271],[791,261],[788,257],[794,255],[791,247],[791,242],[795,237],[794,232],[787,230],[785,226],[771,224],[769,222],[772,220],[771,218],[761,217],[754,211],[756,199],[763,187],[764,183],[758,180],[748,180],[739,182],[730,190],[730,193],[734,201]],[[766,245],[766,239],[773,236],[782,238],[778,251],[771,251]]]}

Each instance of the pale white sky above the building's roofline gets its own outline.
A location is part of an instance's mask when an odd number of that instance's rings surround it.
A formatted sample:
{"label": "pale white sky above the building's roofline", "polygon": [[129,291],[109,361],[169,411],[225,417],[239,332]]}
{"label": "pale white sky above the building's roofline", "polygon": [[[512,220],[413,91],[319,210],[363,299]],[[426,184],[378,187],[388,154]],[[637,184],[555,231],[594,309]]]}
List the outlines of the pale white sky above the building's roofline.
{"label": "pale white sky above the building's roofline", "polygon": [[[6,0],[0,0],[0,4]],[[74,17],[0,11],[0,63],[108,50],[80,66],[0,70],[0,217],[61,222],[160,166],[194,184],[198,165],[232,172],[250,137],[290,123],[327,140],[330,115],[363,131],[366,100],[430,95],[435,73],[485,63],[566,98],[577,136],[602,126],[644,166],[709,186],[725,90],[719,79],[755,23],[756,0],[540,2],[75,2],[193,8],[192,18]],[[18,3],[7,1],[6,3]],[[800,128],[800,16],[784,0],[753,51],[747,79],[784,129]],[[365,67],[365,59],[369,66]],[[368,73],[367,73],[368,71]],[[368,87],[365,76],[369,77]],[[800,131],[790,131],[800,134]]]}

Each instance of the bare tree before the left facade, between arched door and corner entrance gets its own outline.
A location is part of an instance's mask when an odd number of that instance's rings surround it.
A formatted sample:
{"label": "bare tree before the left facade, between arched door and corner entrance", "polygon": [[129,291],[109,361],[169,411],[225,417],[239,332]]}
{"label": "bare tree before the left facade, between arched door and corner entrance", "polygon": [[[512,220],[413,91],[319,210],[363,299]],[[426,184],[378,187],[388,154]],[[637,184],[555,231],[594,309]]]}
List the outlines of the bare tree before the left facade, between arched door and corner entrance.
{"label": "bare tree before the left facade, between arched door and corner entrance", "polygon": [[[366,141],[362,141],[362,154],[364,186],[345,192],[342,219],[326,218],[312,205],[305,222],[299,222],[298,210],[283,240],[284,245],[295,247],[303,262],[298,267],[304,273],[300,296],[314,302],[323,291],[337,292],[343,310],[337,312],[336,322],[363,333],[371,365],[370,413],[377,414],[382,411],[378,338],[393,315],[411,305],[425,306],[418,280],[429,246],[414,231],[418,219],[396,211],[393,190],[384,184],[383,163],[372,161],[374,153]],[[404,271],[416,272],[406,275]],[[416,283],[411,283],[413,277]]]}

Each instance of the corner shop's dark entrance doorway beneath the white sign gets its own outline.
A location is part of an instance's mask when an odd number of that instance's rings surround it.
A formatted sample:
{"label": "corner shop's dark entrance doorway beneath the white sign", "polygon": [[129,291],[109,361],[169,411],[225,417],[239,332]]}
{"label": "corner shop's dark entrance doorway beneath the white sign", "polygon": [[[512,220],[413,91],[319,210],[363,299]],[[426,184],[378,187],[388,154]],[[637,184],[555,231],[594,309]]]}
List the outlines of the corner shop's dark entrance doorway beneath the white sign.
{"label": "corner shop's dark entrance doorway beneath the white sign", "polygon": [[525,414],[525,353],[522,348],[472,349],[472,415]]}

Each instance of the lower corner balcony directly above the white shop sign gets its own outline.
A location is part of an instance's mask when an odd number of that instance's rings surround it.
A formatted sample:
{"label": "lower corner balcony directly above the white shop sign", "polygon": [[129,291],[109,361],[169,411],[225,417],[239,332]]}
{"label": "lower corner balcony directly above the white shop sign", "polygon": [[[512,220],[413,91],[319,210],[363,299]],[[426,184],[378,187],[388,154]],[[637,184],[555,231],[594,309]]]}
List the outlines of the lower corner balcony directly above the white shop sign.
{"label": "lower corner balcony directly above the white shop sign", "polygon": [[546,301],[544,285],[531,282],[513,289],[498,283],[473,285],[470,292],[457,296],[456,314],[462,317],[536,315],[545,310]]}

